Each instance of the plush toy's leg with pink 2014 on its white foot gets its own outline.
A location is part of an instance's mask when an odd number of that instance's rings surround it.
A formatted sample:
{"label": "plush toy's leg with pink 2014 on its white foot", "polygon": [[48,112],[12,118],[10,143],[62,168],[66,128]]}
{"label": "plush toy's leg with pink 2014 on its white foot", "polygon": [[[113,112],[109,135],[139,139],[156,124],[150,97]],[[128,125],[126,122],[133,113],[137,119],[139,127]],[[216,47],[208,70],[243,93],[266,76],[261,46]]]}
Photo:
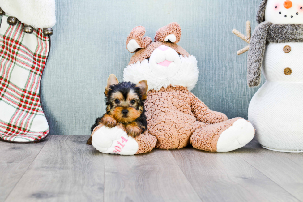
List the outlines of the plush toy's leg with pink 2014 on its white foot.
{"label": "plush toy's leg with pink 2014 on its white foot", "polygon": [[133,155],[150,152],[156,146],[156,137],[147,131],[136,138],[128,136],[124,127],[97,126],[92,132],[92,145],[102,153]]}

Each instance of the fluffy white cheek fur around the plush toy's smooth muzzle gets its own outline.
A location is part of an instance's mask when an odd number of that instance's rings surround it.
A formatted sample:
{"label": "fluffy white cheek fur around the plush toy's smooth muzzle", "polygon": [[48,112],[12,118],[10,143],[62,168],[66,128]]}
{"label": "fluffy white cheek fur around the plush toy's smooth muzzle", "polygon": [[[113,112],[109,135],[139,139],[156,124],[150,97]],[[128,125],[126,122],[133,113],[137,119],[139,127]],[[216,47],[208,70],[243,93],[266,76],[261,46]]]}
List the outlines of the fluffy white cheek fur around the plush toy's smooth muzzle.
{"label": "fluffy white cheek fur around the plush toy's smooth muzzle", "polygon": [[128,65],[123,72],[123,80],[138,83],[141,80],[147,80],[148,90],[160,90],[162,87],[166,88],[172,86],[184,86],[189,91],[194,88],[198,81],[199,70],[197,67],[197,60],[193,55],[181,56],[181,68],[171,78],[158,78],[152,73],[149,68],[147,59],[142,62]]}

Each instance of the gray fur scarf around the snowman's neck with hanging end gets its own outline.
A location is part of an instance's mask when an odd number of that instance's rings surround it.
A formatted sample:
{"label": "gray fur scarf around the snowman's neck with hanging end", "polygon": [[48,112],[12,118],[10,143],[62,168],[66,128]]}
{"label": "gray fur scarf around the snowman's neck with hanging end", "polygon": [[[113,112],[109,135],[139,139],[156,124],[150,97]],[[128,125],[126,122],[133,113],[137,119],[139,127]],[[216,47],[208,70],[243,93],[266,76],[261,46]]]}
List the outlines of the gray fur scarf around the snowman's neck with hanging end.
{"label": "gray fur scarf around the snowman's neck with hanging end", "polygon": [[303,24],[259,24],[250,40],[247,56],[247,84],[249,87],[260,85],[261,67],[266,43],[303,42]]}

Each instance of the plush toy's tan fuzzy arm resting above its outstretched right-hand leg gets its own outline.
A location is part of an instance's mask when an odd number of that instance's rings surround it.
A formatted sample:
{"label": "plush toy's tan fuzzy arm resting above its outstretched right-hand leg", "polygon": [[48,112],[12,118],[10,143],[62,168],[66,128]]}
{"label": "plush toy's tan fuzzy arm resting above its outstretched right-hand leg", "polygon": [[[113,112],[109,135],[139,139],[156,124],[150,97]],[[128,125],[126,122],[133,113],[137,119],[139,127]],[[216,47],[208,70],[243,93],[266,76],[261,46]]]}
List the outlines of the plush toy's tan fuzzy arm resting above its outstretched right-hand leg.
{"label": "plush toy's tan fuzzy arm resting above its outstretched right-hand leg", "polygon": [[198,121],[214,124],[228,120],[225,114],[210,110],[198,97],[189,93],[191,111]]}

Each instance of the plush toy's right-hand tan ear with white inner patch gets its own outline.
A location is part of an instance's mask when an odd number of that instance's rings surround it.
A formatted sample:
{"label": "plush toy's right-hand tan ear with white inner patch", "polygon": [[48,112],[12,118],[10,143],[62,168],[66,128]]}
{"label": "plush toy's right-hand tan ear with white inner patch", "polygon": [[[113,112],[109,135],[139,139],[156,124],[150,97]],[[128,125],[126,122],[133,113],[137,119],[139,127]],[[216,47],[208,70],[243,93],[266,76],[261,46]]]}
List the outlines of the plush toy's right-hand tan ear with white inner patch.
{"label": "plush toy's right-hand tan ear with white inner patch", "polygon": [[181,38],[181,27],[178,23],[173,22],[156,31],[155,41],[178,43]]}

